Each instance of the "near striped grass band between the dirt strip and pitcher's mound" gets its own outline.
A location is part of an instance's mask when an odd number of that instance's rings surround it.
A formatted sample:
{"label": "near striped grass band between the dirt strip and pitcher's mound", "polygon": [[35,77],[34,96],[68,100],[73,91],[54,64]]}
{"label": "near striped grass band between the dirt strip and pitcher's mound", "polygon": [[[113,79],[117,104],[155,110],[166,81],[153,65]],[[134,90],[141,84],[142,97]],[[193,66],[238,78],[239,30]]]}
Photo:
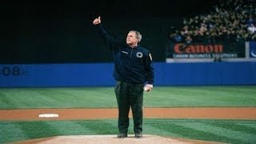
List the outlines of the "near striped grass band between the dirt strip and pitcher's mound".
{"label": "near striped grass band between the dirt strip and pitcher's mound", "polygon": [[[215,123],[250,126],[254,125],[255,121],[146,118],[144,120],[143,134],[156,134],[214,142],[254,143],[254,138],[252,138],[254,134],[250,134],[251,129],[249,129],[249,132],[241,132],[229,130],[222,126],[212,126]],[[6,124],[9,124],[9,126]],[[0,121],[0,138],[1,142],[13,142],[56,135],[118,134],[117,124],[118,119],[84,121]],[[244,130],[246,131],[248,129]],[[230,132],[235,136],[232,136]],[[132,119],[130,119],[129,134],[134,134]]]}

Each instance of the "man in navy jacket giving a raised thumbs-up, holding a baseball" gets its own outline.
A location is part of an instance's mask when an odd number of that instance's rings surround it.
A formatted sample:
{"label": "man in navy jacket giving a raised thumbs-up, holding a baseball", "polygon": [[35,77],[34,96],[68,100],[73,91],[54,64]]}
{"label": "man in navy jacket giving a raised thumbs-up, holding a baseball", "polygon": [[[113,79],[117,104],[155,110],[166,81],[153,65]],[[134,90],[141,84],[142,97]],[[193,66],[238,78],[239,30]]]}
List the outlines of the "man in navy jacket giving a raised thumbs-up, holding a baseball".
{"label": "man in navy jacket giving a raised thumbs-up, holding a baseball", "polygon": [[[134,137],[142,138],[143,91],[153,89],[154,68],[149,50],[140,46],[142,35],[135,30],[127,34],[126,43],[119,42],[104,30],[101,17],[94,25],[110,47],[114,57],[114,92],[118,102],[118,138],[126,138],[129,127],[130,107],[134,118]],[[144,84],[146,84],[144,86]]]}

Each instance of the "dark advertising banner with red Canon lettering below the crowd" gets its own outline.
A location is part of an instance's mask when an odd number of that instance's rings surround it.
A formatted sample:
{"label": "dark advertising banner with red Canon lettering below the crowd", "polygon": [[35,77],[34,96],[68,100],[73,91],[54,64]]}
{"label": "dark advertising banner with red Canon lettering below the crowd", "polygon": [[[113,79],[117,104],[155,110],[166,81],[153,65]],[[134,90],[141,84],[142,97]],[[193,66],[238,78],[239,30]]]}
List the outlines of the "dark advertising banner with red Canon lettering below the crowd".
{"label": "dark advertising banner with red Canon lettering below the crowd", "polygon": [[166,58],[245,58],[245,42],[234,43],[170,43],[166,47]]}

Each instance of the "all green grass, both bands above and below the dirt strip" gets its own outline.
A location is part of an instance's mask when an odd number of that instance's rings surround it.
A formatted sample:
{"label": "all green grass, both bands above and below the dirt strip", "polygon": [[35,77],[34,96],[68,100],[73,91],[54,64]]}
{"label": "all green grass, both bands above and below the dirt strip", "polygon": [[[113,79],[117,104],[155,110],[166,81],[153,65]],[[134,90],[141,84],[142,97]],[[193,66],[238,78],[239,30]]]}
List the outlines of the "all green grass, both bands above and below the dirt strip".
{"label": "all green grass, both bands above and below the dirt strip", "polygon": [[[154,87],[145,107],[256,106],[256,86]],[[0,109],[117,107],[113,87],[0,89]],[[0,121],[0,143],[56,135],[117,134],[117,119]],[[130,134],[133,134],[132,120]],[[143,134],[256,143],[256,120],[145,118]]]}

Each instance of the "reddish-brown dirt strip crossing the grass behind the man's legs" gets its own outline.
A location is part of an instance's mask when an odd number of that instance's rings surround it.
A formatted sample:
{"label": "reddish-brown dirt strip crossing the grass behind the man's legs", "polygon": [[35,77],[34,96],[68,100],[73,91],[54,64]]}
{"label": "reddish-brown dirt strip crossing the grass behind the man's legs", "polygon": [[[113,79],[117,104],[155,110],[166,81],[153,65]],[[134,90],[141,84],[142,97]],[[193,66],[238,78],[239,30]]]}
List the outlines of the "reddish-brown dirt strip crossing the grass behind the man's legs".
{"label": "reddish-brown dirt strip crossing the grass behind the man's legs", "polygon": [[[58,117],[38,117],[58,114]],[[256,119],[256,107],[144,108],[144,118]],[[0,110],[0,120],[75,120],[117,118],[113,109],[24,109]],[[131,114],[130,114],[131,117]]]}

